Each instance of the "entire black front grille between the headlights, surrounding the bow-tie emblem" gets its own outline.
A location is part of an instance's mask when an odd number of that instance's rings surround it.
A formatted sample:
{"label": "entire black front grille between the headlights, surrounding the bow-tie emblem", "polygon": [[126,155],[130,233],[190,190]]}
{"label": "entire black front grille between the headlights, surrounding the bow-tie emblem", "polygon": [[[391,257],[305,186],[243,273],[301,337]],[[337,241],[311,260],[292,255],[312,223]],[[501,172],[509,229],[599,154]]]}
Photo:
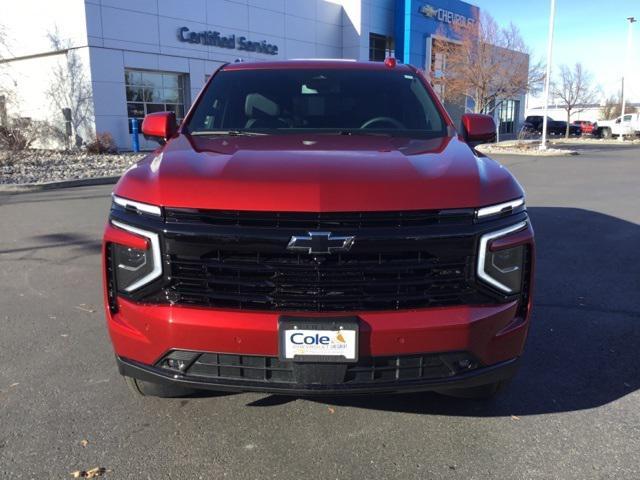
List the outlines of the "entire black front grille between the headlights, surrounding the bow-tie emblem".
{"label": "entire black front grille between the headlights, surrounding the bow-tie emblem", "polygon": [[[364,213],[166,209],[165,283],[146,299],[346,312],[495,303],[475,283],[473,210]],[[291,251],[292,236],[353,235],[349,251]]]}

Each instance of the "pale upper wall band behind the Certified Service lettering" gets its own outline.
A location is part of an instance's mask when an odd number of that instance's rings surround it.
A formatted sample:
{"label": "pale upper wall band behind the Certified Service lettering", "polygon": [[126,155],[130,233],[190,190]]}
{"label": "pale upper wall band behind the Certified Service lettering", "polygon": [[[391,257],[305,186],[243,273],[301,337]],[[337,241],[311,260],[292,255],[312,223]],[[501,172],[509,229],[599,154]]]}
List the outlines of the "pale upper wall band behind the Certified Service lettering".
{"label": "pale upper wall band behind the Certified Service lettering", "polygon": [[[342,6],[332,0],[86,0],[91,46],[200,58],[247,61],[304,57],[340,58]],[[215,30],[266,40],[278,55],[178,41],[178,27]]]}

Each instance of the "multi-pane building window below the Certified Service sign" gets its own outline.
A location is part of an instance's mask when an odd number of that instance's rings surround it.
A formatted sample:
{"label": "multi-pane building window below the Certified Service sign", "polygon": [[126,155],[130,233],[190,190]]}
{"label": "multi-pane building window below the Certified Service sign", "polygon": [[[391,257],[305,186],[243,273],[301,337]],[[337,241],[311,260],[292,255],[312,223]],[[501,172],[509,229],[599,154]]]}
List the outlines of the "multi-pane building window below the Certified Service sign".
{"label": "multi-pane building window below the Certified Service sign", "polygon": [[[181,73],[130,70],[124,72],[127,116],[139,122],[154,112],[175,112],[178,123],[184,118],[186,75]],[[131,121],[129,121],[131,130]]]}

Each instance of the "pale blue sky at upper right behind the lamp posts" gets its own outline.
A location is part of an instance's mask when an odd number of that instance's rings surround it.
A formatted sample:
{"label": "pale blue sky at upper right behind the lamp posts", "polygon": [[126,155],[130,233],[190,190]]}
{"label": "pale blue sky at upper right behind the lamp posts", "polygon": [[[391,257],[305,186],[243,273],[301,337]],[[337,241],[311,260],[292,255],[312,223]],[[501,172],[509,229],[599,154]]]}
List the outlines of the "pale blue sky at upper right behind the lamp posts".
{"label": "pale blue sky at upper right behind the lamp posts", "polygon": [[[522,33],[532,58],[546,62],[550,0],[471,0],[500,25],[513,22]],[[620,90],[627,47],[627,17],[633,24],[627,95],[640,102],[640,0],[556,0],[552,78],[558,66],[580,62],[604,96]],[[532,100],[532,103],[537,103]]]}

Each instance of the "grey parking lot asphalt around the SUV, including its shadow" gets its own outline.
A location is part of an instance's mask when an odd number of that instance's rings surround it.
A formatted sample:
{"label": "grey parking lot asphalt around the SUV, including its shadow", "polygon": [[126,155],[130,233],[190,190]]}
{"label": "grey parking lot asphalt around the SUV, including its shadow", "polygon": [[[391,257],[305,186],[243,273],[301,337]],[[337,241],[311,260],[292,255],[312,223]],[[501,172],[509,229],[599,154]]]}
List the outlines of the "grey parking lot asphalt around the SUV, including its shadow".
{"label": "grey parking lot asphalt around the SUV, including its shadow", "polygon": [[110,187],[0,197],[0,477],[640,478],[640,148],[496,157],[538,241],[522,369],[436,394],[136,399],[104,325]]}

